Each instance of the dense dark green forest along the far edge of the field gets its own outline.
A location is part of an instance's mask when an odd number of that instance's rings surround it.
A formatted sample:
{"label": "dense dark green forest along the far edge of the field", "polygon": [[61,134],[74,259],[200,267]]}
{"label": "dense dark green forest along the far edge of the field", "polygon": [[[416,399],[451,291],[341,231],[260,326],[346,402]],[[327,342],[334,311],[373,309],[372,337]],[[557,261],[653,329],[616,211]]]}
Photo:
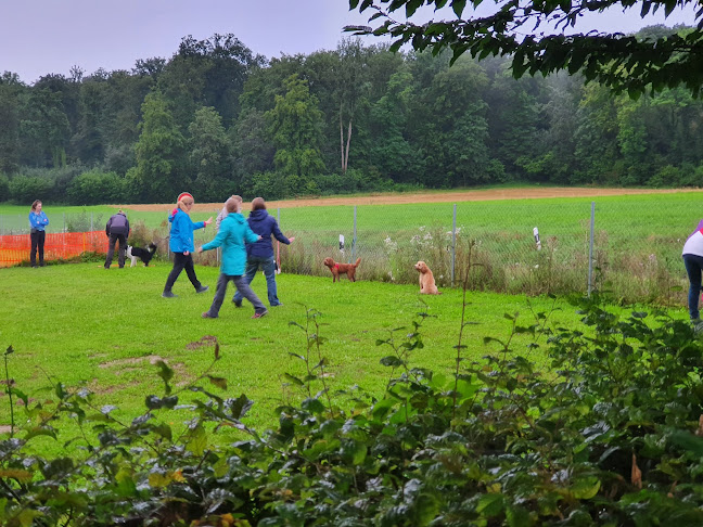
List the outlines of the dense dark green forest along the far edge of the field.
{"label": "dense dark green forest along the far edge of the field", "polygon": [[[649,38],[689,29],[650,26]],[[579,76],[515,80],[507,59],[343,40],[267,60],[183,38],[131,72],[0,77],[0,195],[67,204],[269,200],[506,182],[703,185],[703,102]]]}

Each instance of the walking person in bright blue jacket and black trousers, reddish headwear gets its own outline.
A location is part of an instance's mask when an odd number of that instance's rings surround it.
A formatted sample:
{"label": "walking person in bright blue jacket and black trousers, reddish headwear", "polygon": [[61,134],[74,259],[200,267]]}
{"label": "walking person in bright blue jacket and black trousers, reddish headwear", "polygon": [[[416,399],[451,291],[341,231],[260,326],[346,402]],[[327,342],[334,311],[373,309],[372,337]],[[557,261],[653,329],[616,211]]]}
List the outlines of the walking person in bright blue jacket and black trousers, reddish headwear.
{"label": "walking person in bright blue jacket and black trousers, reddish headwear", "polygon": [[166,285],[164,286],[164,293],[162,296],[165,298],[174,298],[178,295],[175,295],[171,292],[171,287],[176,283],[176,279],[186,269],[186,274],[188,279],[195,287],[195,293],[205,293],[209,290],[208,285],[203,285],[197,280],[195,275],[195,269],[193,268],[193,231],[207,227],[213,222],[210,217],[206,221],[196,221],[190,219],[189,213],[193,208],[195,200],[188,192],[182,192],[178,196],[178,203],[176,208],[168,217],[168,221],[171,223],[170,239],[168,241],[168,246],[170,247],[171,253],[174,253],[174,269],[168,274],[166,280]]}

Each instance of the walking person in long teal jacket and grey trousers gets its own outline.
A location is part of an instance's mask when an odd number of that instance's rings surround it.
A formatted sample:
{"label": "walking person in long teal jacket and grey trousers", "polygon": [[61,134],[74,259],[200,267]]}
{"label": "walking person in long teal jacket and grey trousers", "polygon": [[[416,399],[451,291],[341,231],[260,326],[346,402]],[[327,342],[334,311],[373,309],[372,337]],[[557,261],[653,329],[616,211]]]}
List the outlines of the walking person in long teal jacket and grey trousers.
{"label": "walking person in long teal jacket and grey trousers", "polygon": [[246,246],[247,243],[256,243],[261,236],[254,234],[244,216],[240,214],[242,202],[233,197],[227,200],[227,217],[220,223],[219,232],[215,240],[197,248],[199,253],[222,247],[222,265],[220,266],[220,275],[217,279],[217,291],[213,305],[203,313],[204,319],[216,319],[225,301],[227,294],[227,284],[234,282],[237,291],[254,306],[253,319],[259,319],[268,313],[268,310],[259,300],[259,297],[252,291],[243,277],[246,267]]}

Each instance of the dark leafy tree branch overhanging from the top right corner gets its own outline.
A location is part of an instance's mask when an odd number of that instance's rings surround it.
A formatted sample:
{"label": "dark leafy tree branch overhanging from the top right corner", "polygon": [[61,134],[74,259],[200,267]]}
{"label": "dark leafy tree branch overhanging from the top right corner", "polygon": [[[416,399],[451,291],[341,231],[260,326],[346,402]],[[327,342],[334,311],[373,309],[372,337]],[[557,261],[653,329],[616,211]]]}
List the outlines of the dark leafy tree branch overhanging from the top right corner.
{"label": "dark leafy tree branch overhanging from the top right corner", "polygon": [[[431,50],[438,54],[448,49],[453,53],[452,62],[464,53],[477,59],[509,55],[515,78],[565,70],[572,75],[580,73],[587,81],[608,86],[615,93],[627,91],[631,97],[648,89],[661,91],[677,86],[700,95],[703,22],[694,28],[680,27],[676,34],[651,38],[621,33],[563,34],[566,27],[575,27],[577,18],[587,12],[619,7],[639,8],[640,16],[660,10],[668,15],[677,7],[698,5],[692,0],[533,0],[522,4],[509,0],[497,1],[496,11],[485,16],[464,16],[466,3],[465,0],[349,0],[352,9],[373,11],[369,23],[374,26],[347,26],[345,30],[391,37],[393,50],[409,44],[416,51]],[[475,0],[473,5],[480,3],[481,0]],[[402,8],[410,18],[422,5],[450,7],[457,20],[414,24],[393,18]],[[703,8],[696,13],[696,21],[702,15]],[[528,27],[532,29],[525,33]]]}

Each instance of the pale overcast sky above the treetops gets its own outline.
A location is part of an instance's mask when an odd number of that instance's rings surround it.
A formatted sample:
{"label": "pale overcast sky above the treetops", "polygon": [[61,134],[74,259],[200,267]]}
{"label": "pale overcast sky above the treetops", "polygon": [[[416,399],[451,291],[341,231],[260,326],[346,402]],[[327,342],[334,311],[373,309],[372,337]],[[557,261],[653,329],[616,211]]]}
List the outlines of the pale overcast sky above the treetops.
{"label": "pale overcast sky above the treetops", "polygon": [[[308,54],[336,48],[342,27],[367,20],[349,12],[347,0],[7,0],[0,11],[0,72],[33,83],[47,74],[67,76],[74,65],[86,74],[129,70],[138,59],[170,59],[188,35],[204,40],[231,33],[269,59]],[[578,29],[630,33],[693,22],[693,9],[644,21],[637,10],[614,10],[586,18]]]}

